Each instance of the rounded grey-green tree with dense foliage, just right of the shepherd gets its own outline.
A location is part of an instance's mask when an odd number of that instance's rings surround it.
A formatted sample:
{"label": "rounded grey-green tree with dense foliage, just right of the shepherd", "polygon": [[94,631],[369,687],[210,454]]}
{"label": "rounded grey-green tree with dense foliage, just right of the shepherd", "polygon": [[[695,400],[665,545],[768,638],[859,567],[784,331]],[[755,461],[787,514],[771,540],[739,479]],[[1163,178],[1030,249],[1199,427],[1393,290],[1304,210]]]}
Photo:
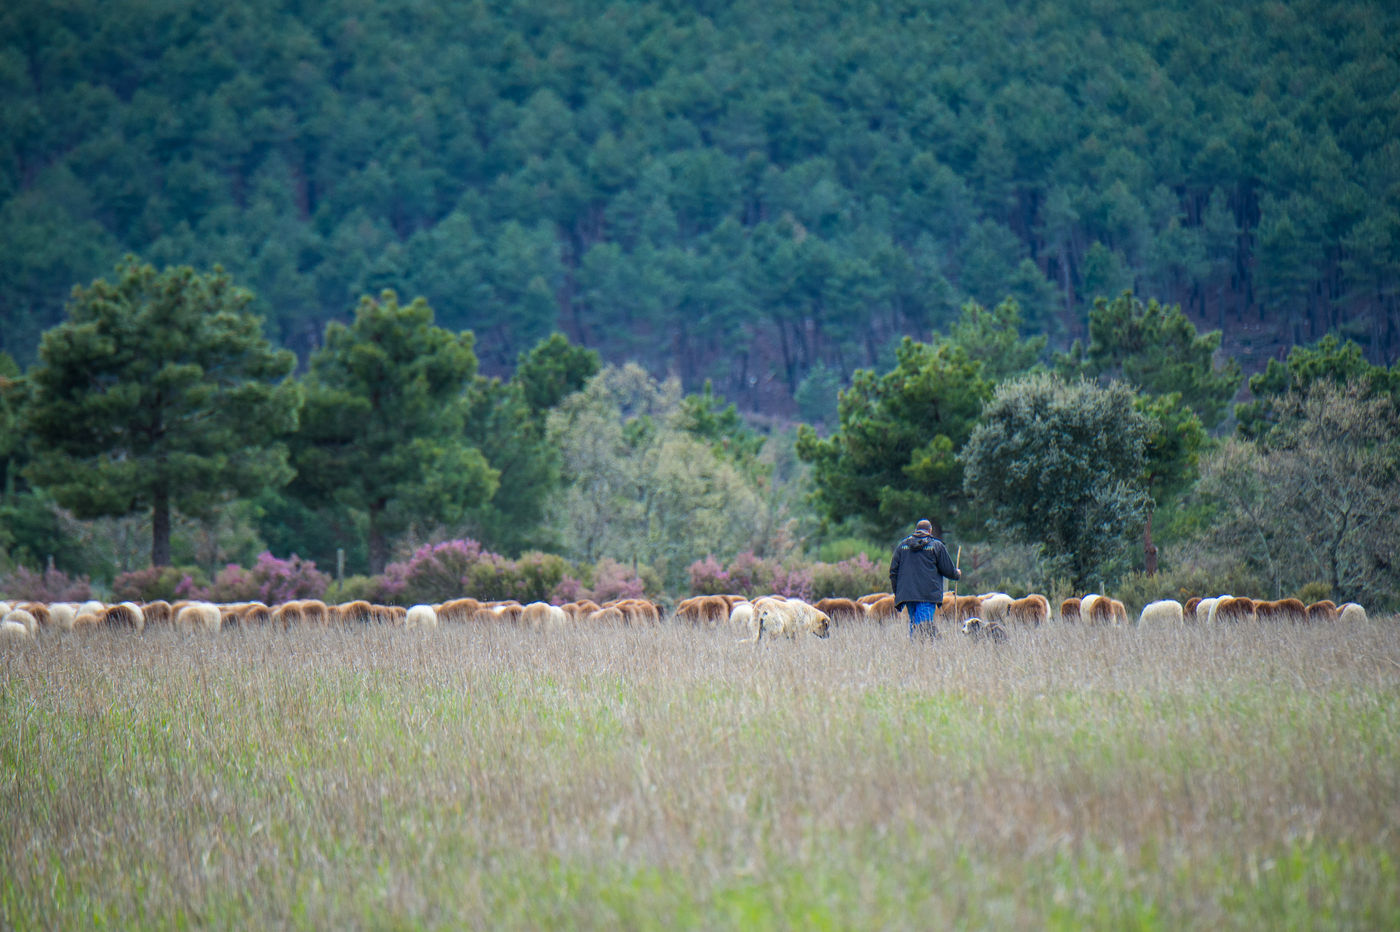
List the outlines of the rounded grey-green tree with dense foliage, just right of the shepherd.
{"label": "rounded grey-green tree with dense foliage, just right of the shepherd", "polygon": [[1005,382],[959,456],[963,486],[995,525],[1039,544],[1053,578],[1085,592],[1117,575],[1147,514],[1148,434],[1121,382]]}

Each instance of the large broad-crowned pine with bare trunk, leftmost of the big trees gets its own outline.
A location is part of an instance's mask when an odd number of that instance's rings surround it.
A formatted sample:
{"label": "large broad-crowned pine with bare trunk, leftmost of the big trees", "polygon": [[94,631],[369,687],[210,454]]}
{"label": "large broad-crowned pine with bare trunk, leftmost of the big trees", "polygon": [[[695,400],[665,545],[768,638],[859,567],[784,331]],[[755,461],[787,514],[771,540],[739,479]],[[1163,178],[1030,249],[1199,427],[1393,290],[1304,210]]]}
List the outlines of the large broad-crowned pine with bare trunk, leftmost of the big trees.
{"label": "large broad-crowned pine with bare trunk, leftmost of the big trees", "polygon": [[172,509],[204,516],[286,483],[294,358],[269,346],[251,299],[218,267],[134,259],[115,284],[74,288],[29,374],[28,479],[78,518],[150,509],[154,565],[169,564]]}

